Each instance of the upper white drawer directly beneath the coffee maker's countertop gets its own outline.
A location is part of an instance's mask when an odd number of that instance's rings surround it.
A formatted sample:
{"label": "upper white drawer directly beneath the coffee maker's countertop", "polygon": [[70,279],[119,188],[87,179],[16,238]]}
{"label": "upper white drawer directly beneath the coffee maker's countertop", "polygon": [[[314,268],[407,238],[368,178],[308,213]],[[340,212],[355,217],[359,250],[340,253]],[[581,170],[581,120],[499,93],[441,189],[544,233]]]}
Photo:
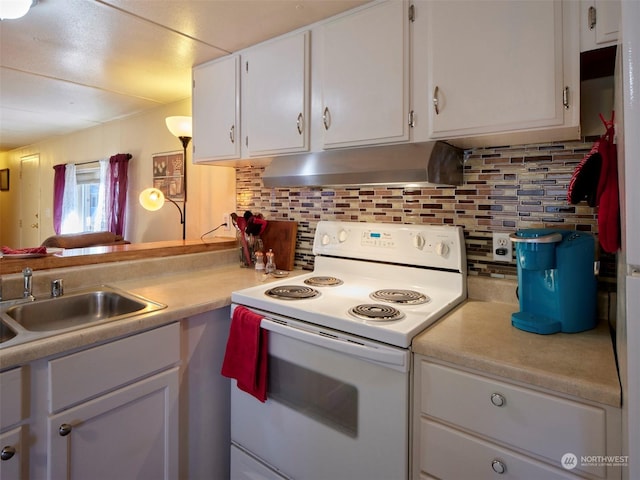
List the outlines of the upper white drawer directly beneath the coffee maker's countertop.
{"label": "upper white drawer directly beneath the coffee maker's countertop", "polygon": [[[429,362],[421,364],[425,414],[535,453],[560,467],[565,453],[606,455],[605,410]],[[497,406],[495,403],[500,403]],[[605,468],[584,470],[605,476]]]}

